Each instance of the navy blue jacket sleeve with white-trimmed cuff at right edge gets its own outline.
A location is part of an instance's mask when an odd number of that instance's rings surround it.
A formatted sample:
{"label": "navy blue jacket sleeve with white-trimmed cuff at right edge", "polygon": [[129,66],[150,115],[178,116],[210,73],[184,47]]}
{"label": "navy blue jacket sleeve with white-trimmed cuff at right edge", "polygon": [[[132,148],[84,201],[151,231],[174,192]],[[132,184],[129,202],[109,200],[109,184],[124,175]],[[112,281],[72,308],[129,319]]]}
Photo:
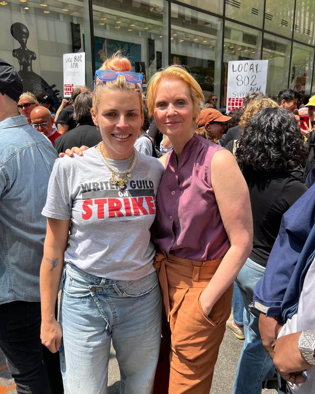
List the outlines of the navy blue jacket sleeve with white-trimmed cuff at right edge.
{"label": "navy blue jacket sleeve with white-trimmed cuff at right edge", "polygon": [[315,255],[315,185],[285,212],[265,275],[254,288],[253,307],[285,323],[298,309]]}

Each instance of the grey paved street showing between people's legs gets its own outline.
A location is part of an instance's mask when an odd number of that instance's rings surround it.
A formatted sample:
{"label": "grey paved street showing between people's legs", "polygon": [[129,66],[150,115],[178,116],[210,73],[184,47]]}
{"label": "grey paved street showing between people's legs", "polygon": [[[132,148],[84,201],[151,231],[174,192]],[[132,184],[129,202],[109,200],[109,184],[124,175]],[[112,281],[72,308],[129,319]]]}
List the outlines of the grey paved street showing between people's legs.
{"label": "grey paved street showing between people's legs", "polygon": [[[226,330],[215,367],[211,394],[232,393],[234,374],[242,344],[243,341],[236,339],[228,329]],[[16,390],[13,388],[13,380],[9,378],[7,368],[4,368],[5,364],[3,354],[0,353],[0,394],[16,394]],[[119,394],[119,368],[113,348],[109,360],[108,377],[108,394]],[[268,390],[267,394],[276,394],[276,391]]]}

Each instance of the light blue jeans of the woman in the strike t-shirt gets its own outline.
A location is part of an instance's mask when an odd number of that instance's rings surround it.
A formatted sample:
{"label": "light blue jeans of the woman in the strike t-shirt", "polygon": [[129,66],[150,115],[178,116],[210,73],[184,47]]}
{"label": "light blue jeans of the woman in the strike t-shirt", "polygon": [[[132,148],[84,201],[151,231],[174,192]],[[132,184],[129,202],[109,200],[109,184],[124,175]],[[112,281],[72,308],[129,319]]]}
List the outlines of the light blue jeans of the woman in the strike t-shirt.
{"label": "light blue jeans of the woman in the strike t-shirt", "polygon": [[107,393],[111,340],[120,369],[120,393],[152,392],[161,340],[156,272],[135,281],[116,281],[67,263],[60,324],[65,394]]}

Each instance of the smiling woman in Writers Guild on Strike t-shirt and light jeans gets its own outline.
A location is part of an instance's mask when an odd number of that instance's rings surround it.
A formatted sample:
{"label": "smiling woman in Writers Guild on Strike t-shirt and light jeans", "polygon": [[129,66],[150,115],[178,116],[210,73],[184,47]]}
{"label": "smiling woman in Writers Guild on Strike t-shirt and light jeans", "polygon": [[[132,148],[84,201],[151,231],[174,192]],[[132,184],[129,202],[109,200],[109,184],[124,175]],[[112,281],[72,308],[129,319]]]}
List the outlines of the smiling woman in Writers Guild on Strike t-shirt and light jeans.
{"label": "smiling woman in Writers Guild on Strike t-shirt and light jeans", "polygon": [[83,158],[56,160],[43,209],[41,338],[60,351],[65,394],[107,392],[111,340],[120,392],[148,394],[153,387],[161,295],[150,227],[163,165],[133,148],[143,95],[142,75],[130,70],[116,54],[96,72],[91,114],[102,141]]}

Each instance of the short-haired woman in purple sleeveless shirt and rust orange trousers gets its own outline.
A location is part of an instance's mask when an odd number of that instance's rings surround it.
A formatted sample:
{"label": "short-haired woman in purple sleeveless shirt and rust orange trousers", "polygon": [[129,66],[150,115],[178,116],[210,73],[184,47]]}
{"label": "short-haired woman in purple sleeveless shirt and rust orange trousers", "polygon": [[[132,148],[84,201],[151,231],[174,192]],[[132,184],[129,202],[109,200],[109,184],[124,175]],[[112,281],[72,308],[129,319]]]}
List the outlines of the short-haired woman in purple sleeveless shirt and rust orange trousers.
{"label": "short-haired woman in purple sleeveless shirt and rust orange trousers", "polygon": [[183,67],[157,72],[146,102],[173,147],[153,237],[164,328],[170,330],[169,393],[208,394],[233,281],[252,249],[248,188],[233,155],[195,133],[204,96]]}

